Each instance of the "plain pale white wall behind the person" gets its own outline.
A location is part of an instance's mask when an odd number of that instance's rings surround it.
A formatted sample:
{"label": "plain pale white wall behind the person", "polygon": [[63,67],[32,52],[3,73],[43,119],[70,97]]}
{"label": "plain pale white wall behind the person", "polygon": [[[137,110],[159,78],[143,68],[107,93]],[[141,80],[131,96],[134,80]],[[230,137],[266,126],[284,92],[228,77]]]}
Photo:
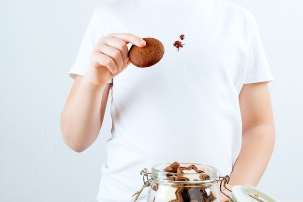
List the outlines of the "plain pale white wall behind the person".
{"label": "plain pale white wall behind the person", "polygon": [[[0,202],[95,201],[108,111],[101,136],[80,154],[61,138],[60,113],[100,1],[0,0]],[[303,201],[303,0],[230,1],[257,18],[275,78],[276,146],[259,187]]]}

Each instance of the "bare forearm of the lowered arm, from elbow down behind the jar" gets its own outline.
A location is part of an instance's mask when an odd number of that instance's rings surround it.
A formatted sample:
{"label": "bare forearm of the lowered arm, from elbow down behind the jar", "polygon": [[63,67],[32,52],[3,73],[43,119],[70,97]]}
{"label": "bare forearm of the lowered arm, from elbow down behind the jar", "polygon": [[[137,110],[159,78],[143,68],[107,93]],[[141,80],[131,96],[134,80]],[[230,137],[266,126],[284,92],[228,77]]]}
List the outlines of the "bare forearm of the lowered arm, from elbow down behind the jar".
{"label": "bare forearm of the lowered arm, from elbow down behind the jar", "polygon": [[240,154],[229,184],[257,186],[273,153],[274,125],[257,125],[242,134]]}

